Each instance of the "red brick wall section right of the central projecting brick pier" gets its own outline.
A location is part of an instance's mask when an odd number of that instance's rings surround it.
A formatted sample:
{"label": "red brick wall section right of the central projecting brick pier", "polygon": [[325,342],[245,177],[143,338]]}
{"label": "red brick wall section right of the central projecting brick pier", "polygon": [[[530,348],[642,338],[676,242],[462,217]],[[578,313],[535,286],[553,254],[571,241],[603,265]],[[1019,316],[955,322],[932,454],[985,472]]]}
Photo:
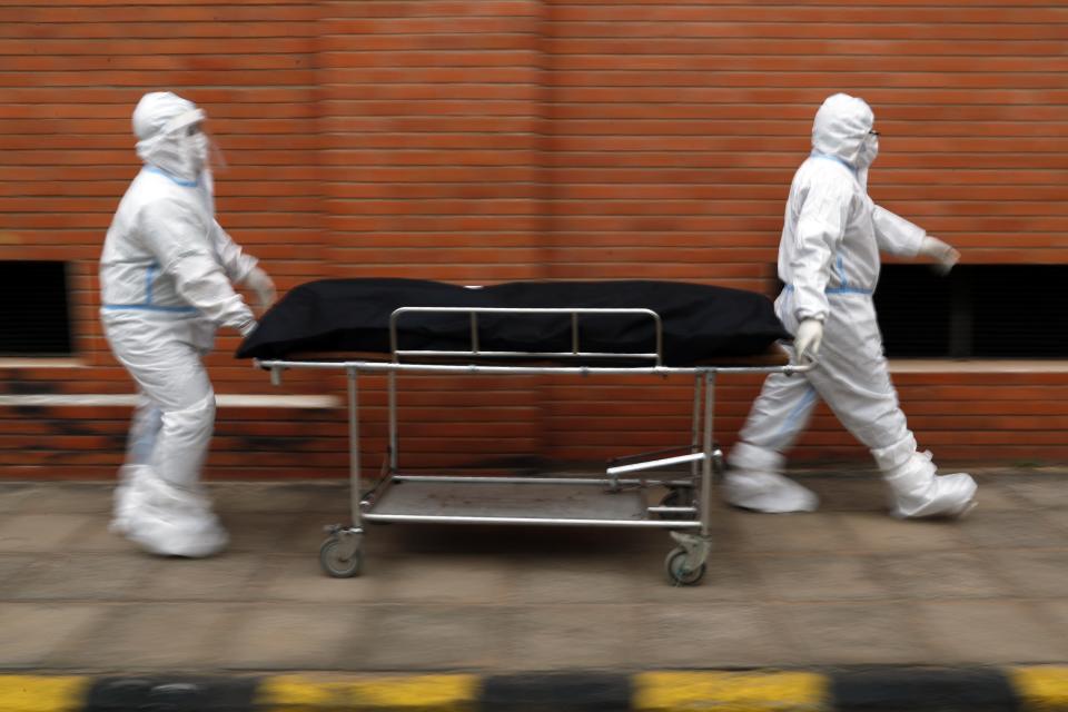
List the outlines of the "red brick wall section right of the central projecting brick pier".
{"label": "red brick wall section right of the central projecting brick pier", "polygon": [[[876,110],[879,202],[967,261],[1068,261],[1068,10],[927,4],[547,3],[553,276],[768,291],[790,180],[834,91]],[[759,379],[722,380],[716,427],[730,442]],[[1064,458],[1065,383],[898,377],[921,445],[941,459]],[[551,390],[554,449],[683,442],[685,389],[636,390]],[[615,398],[632,405],[604,407]],[[823,407],[797,455],[866,457]]]}

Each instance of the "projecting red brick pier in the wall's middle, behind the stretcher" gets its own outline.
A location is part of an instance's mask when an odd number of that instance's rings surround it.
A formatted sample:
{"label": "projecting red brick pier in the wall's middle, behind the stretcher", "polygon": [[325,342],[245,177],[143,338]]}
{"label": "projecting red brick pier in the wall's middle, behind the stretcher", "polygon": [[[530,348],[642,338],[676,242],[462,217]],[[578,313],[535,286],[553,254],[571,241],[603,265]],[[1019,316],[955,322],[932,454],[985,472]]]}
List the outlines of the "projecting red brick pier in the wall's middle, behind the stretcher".
{"label": "projecting red brick pier in the wall's middle, behind the stretcher", "polygon": [[[550,276],[543,12],[537,0],[322,3],[332,274],[459,284]],[[378,424],[369,435],[380,438],[384,378],[365,380]],[[403,385],[402,464],[543,449],[534,378]],[[383,448],[369,443],[372,463]]]}

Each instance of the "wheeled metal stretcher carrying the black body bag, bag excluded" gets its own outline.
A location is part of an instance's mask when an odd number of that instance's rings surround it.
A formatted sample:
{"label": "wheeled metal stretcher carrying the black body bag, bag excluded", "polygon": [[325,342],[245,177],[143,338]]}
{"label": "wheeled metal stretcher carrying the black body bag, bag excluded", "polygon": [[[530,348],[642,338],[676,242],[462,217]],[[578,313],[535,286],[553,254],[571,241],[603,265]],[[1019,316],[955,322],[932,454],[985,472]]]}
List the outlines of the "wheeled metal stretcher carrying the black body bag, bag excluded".
{"label": "wheeled metal stretcher carrying the black body bag, bag excluded", "polygon": [[[461,319],[467,343],[448,348],[405,344],[406,323],[419,328],[436,322],[455,326]],[[486,347],[485,324],[508,325],[537,319],[545,326],[566,325],[570,348],[558,343],[544,350]],[[615,323],[644,323],[650,348],[590,349],[583,324],[595,320],[609,332]],[[455,335],[454,335],[455,336]],[[418,340],[418,339],[415,339]],[[713,475],[722,471],[723,453],[713,433],[714,388],[720,374],[802,373],[810,365],[787,363],[774,343],[759,354],[732,356],[724,363],[671,365],[664,357],[664,319],[643,307],[402,306],[389,312],[388,352],[295,352],[286,357],[256,357],[279,384],[287,369],[326,369],[347,377],[349,524],[327,527],[319,551],[323,570],[348,577],[360,572],[365,523],[516,524],[550,526],[641,527],[665,530],[675,542],[664,567],[676,585],[696,584],[704,576],[711,548]],[[244,348],[244,355],[255,354]],[[385,374],[388,398],[388,445],[379,476],[367,482],[360,466],[359,379]],[[610,461],[603,473],[554,476],[483,476],[413,474],[400,466],[397,384],[405,374],[479,375],[551,374],[576,378],[597,375],[693,379],[689,444],[672,451],[627,455]],[[665,471],[663,476],[654,476]],[[680,474],[681,473],[681,474]],[[665,492],[650,504],[652,492]]]}

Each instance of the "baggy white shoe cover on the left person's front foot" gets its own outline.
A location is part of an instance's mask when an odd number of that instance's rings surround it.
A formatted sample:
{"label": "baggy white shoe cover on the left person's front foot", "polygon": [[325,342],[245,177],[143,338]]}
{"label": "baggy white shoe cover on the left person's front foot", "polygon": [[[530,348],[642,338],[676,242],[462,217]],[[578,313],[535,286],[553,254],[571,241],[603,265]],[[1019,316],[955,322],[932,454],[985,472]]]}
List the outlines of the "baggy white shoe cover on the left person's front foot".
{"label": "baggy white shoe cover on the left person's front foot", "polygon": [[229,543],[206,497],[159,481],[149,481],[144,500],[125,513],[122,524],[128,540],[160,556],[202,558]]}

